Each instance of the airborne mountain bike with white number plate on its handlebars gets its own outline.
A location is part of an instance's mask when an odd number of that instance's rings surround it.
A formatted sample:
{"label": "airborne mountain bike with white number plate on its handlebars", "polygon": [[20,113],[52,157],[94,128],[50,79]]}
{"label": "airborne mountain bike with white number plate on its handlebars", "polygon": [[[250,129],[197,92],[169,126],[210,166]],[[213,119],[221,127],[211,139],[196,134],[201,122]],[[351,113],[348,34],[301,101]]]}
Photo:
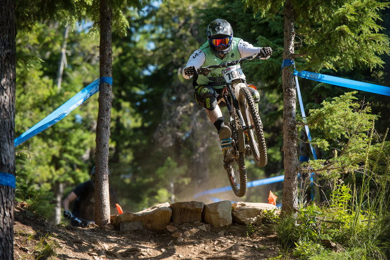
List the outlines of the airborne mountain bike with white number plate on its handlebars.
{"label": "airborne mountain bike with white number plate on its handlebars", "polygon": [[245,157],[252,155],[258,167],[267,165],[263,124],[253,96],[248,89],[254,86],[247,84],[241,69],[243,61],[252,60],[256,56],[257,54],[197,69],[198,74],[206,76],[214,69],[226,68],[222,71],[226,84],[217,99],[223,98],[230,115],[229,122],[225,124],[232,130],[232,146],[225,153],[223,166],[237,197],[244,196],[247,190]]}

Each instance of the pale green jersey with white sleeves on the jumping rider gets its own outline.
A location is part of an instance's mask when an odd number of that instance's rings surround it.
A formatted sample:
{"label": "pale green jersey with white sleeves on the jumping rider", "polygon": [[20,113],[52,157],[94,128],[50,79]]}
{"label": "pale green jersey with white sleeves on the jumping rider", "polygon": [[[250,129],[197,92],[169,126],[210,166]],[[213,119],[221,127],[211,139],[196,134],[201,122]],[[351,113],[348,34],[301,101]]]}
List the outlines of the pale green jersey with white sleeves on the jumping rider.
{"label": "pale green jersey with white sleeves on the jumping rider", "polygon": [[[215,55],[211,50],[209,42],[206,41],[198,50],[196,50],[188,59],[186,67],[195,66],[196,68],[207,67],[210,65],[218,65],[222,62],[228,60],[236,60],[241,57],[251,56],[260,52],[261,47],[254,47],[252,44],[243,41],[240,38],[233,38],[232,48],[229,53],[225,54],[223,59],[220,59]],[[185,69],[184,68],[184,69]],[[190,76],[184,74],[183,77],[188,79]],[[212,86],[214,89],[221,89],[225,85],[225,79],[222,76],[222,70],[224,68],[219,68],[213,70],[212,73],[207,76],[198,75],[196,83],[200,86],[208,85]]]}

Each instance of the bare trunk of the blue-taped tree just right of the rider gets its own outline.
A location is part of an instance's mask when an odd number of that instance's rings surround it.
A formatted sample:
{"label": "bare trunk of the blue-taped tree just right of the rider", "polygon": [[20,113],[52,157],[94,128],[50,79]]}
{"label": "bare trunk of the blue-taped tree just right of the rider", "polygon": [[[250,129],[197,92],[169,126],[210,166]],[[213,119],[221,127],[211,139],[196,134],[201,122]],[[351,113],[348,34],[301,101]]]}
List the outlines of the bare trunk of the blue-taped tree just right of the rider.
{"label": "bare trunk of the blue-taped tree just right of the rider", "polygon": [[[294,13],[292,0],[286,0],[284,7],[284,53],[283,59],[293,59],[294,54]],[[295,126],[296,86],[292,67],[282,69],[283,84],[283,214],[294,213],[298,208],[298,132]]]}

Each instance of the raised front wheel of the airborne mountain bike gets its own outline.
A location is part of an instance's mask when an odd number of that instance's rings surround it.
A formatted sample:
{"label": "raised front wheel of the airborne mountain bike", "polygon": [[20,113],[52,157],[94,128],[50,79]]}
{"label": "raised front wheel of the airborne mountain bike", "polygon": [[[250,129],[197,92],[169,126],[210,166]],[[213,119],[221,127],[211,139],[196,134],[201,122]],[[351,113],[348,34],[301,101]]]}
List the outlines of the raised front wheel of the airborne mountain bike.
{"label": "raised front wheel of the airborne mountain bike", "polygon": [[258,167],[264,167],[267,165],[268,158],[263,124],[261,123],[252,94],[246,86],[240,88],[238,105],[242,117],[244,118],[245,125],[250,126],[249,129],[246,130],[246,136],[254,162]]}

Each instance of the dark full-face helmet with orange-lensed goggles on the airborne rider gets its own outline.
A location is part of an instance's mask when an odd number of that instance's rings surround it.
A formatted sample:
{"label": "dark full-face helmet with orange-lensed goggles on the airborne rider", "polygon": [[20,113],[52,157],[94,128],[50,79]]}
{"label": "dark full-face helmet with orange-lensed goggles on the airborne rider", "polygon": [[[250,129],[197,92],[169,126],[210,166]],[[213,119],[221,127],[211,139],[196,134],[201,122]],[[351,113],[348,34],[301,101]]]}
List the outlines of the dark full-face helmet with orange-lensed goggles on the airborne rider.
{"label": "dark full-face helmet with orange-lensed goggles on the airborne rider", "polygon": [[232,26],[224,19],[215,19],[207,27],[207,39],[215,54],[228,53],[232,48]]}

